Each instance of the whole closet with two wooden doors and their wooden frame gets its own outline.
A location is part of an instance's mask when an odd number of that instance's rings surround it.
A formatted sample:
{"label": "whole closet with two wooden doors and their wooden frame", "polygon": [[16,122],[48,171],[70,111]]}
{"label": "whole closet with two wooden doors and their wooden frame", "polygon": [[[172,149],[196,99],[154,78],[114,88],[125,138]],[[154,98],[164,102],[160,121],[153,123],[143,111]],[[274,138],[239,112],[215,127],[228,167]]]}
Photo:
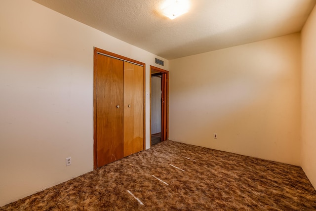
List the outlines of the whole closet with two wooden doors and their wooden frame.
{"label": "whole closet with two wooden doors and their wooden frame", "polygon": [[144,144],[144,64],[95,48],[94,168]]}

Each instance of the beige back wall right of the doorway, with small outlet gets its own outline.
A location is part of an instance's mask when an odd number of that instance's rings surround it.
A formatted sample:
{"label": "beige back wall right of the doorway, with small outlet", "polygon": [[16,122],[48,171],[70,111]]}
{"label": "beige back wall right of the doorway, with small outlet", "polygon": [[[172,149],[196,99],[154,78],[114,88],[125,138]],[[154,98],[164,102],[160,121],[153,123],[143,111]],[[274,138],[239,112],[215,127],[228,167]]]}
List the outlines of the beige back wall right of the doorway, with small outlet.
{"label": "beige back wall right of the doorway, with small outlet", "polygon": [[292,34],[170,60],[169,139],[300,165],[300,47]]}

